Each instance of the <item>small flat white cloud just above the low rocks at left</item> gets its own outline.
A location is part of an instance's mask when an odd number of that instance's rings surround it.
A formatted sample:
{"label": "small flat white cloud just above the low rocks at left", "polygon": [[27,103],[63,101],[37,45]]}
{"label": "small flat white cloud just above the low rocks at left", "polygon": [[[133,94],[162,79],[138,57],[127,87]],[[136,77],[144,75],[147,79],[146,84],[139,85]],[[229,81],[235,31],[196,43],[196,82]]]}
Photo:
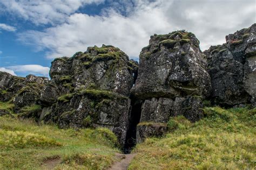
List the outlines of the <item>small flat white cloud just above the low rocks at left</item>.
{"label": "small flat white cloud just above the low rocks at left", "polygon": [[41,65],[19,65],[19,66],[9,66],[8,69],[14,70],[16,73],[29,73],[36,75],[49,75],[49,67],[43,67]]}

